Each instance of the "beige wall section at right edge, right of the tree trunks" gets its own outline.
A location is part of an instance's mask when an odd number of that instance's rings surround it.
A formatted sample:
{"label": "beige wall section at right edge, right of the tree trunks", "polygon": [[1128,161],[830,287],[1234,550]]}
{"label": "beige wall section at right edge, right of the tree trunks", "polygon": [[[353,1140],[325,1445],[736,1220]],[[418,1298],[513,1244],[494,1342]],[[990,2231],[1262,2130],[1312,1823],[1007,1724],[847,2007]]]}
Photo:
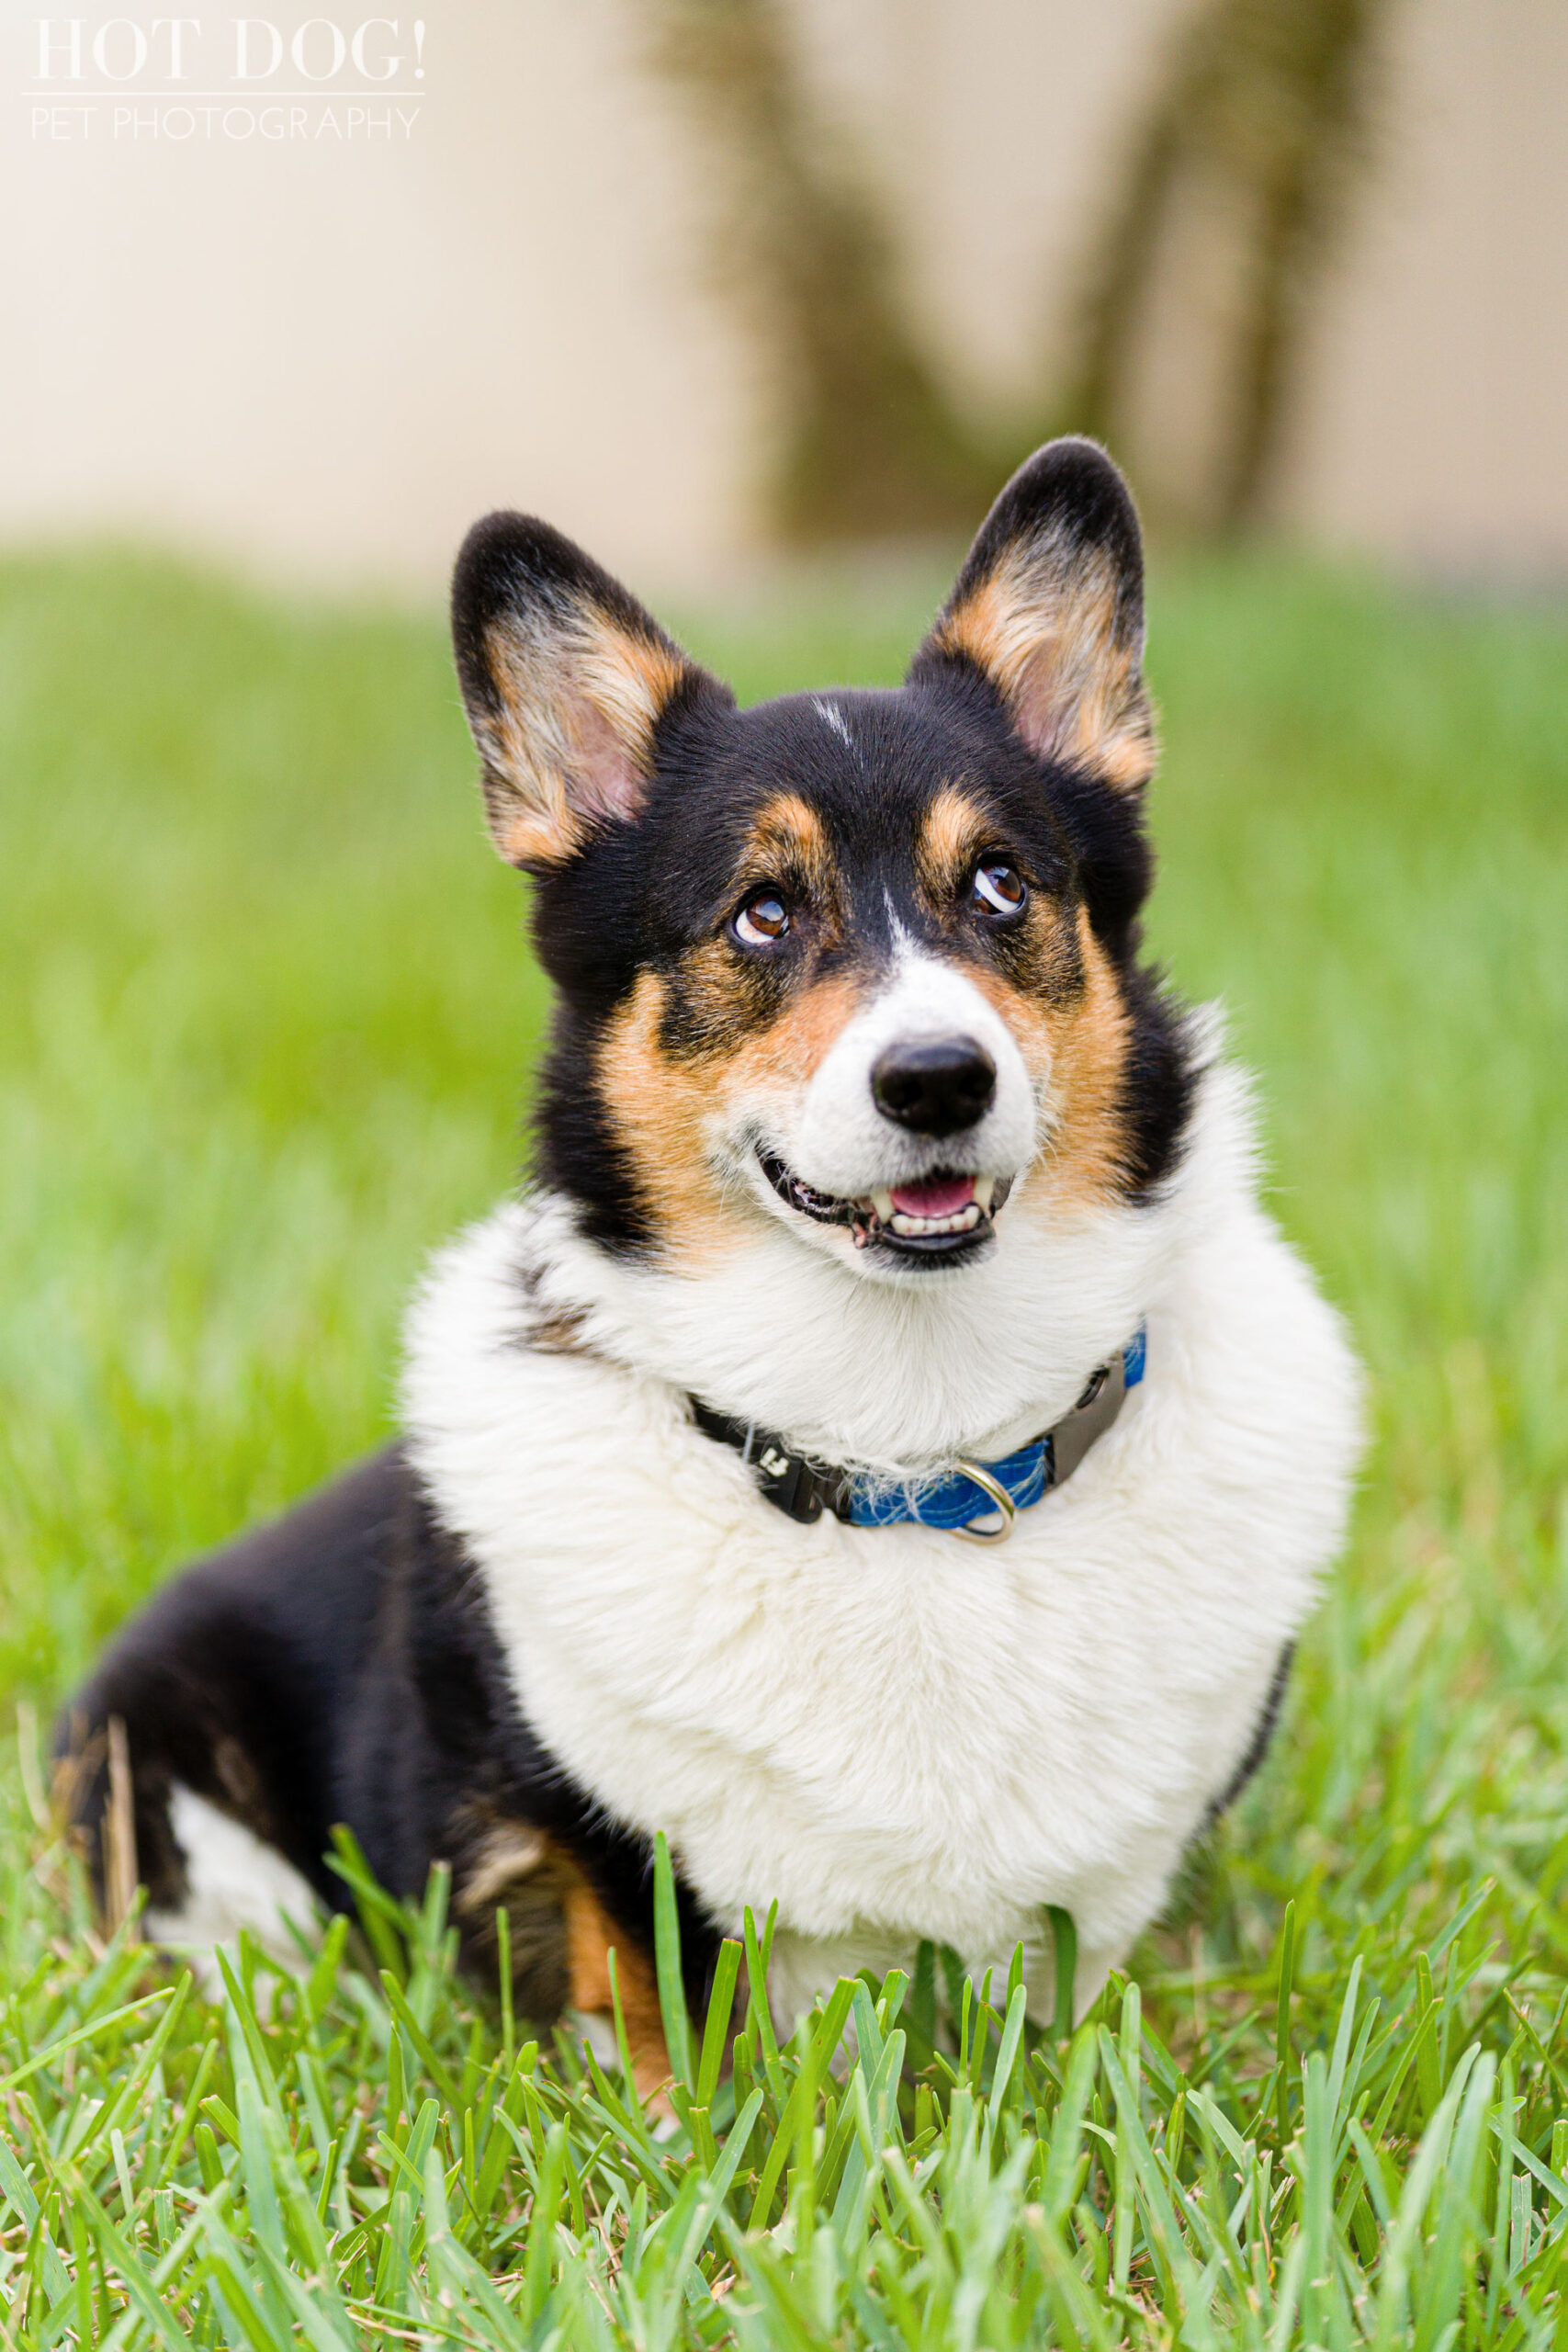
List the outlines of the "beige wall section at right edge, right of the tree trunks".
{"label": "beige wall section at right edge, right of the tree trunks", "polygon": [[1403,0],[1392,153],[1324,308],[1286,513],[1568,576],[1568,7]]}

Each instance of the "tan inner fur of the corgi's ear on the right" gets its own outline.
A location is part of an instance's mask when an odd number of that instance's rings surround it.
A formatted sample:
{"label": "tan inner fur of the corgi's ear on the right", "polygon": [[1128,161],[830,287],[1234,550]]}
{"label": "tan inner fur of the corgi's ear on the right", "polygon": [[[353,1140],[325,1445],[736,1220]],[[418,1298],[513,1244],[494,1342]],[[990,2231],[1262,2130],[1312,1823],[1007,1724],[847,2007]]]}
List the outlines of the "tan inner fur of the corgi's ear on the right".
{"label": "tan inner fur of the corgi's ear on the right", "polygon": [[1154,771],[1154,722],[1138,647],[1117,635],[1117,579],[1103,555],[1048,541],[1009,548],[936,633],[997,684],[1025,743],[1119,790]]}

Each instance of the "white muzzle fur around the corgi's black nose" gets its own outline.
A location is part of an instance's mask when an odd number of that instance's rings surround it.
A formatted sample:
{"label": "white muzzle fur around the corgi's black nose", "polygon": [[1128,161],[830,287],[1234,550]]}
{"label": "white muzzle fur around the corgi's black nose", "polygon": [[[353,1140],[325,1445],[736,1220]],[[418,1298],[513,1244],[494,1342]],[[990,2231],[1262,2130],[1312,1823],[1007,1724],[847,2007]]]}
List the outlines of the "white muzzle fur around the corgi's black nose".
{"label": "white muzzle fur around the corgi's black nose", "polygon": [[[992,1108],[964,1134],[917,1136],[877,1110],[872,1068],[893,1044],[973,1037],[997,1065]],[[858,1197],[957,1162],[1018,1176],[1039,1138],[1030,1070],[1001,1014],[954,964],[903,948],[886,988],[844,1023],[780,1136],[790,1169],[820,1192]]]}

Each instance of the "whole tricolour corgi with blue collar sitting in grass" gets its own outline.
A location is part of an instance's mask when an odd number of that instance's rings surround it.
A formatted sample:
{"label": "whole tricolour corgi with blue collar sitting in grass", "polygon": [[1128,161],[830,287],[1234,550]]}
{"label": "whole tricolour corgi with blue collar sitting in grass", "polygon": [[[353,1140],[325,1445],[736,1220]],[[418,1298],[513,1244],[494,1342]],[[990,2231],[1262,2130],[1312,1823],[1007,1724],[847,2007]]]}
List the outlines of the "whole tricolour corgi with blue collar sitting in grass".
{"label": "whole tricolour corgi with blue collar sitting in grass", "polygon": [[[1258,1766],[1340,1545],[1338,1315],[1248,1082],[1140,953],[1143,546],[1093,442],[1006,485],[896,691],[741,710],[489,515],[451,597],[555,1025],[524,1190],[433,1263],[402,1437],[167,1585],[66,1710],[99,1879],[209,1950],[451,1870],[465,1962],[668,2072],[950,1945],[1056,2004]],[[118,1851],[110,1835],[120,1823]],[[134,1849],[127,1858],[127,1849]]]}

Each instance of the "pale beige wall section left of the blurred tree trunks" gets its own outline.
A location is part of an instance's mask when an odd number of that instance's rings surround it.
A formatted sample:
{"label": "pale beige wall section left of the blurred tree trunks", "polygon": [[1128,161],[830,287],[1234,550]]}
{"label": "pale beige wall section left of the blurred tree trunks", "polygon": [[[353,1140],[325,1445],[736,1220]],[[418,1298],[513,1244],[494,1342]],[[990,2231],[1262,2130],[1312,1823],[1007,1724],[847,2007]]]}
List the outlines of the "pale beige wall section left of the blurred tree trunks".
{"label": "pale beige wall section left of the blurred tree trunks", "polygon": [[7,536],[110,522],[416,590],[505,501],[635,567],[731,543],[741,360],[691,296],[682,151],[618,0],[425,21],[430,96],[397,146],[132,143],[103,120],[35,143],[19,108]]}

